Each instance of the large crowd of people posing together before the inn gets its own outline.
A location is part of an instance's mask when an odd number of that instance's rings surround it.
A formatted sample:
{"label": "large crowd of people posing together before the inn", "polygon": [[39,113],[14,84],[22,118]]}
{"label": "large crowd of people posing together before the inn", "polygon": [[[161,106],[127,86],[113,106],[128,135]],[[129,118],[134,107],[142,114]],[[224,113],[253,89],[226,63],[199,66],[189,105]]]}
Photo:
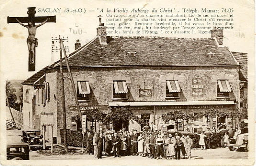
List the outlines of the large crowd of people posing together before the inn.
{"label": "large crowd of people posing together before the inn", "polygon": [[172,135],[171,133],[157,130],[156,127],[146,125],[142,132],[136,129],[125,131],[121,129],[102,130],[100,133],[86,132],[85,153],[94,155],[98,159],[105,156],[142,156],[151,159],[190,159],[192,139],[189,135]]}

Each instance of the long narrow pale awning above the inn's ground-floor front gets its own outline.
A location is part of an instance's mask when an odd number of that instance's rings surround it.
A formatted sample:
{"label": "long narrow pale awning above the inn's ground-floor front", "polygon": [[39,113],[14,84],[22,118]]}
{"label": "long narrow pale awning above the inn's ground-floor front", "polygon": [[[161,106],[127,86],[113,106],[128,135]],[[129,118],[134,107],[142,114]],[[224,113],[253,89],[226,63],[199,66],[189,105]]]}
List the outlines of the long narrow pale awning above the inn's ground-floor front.
{"label": "long narrow pale awning above the inn's ground-floor front", "polygon": [[150,105],[223,105],[235,104],[231,100],[214,101],[179,101],[179,102],[108,102],[109,106],[150,106]]}

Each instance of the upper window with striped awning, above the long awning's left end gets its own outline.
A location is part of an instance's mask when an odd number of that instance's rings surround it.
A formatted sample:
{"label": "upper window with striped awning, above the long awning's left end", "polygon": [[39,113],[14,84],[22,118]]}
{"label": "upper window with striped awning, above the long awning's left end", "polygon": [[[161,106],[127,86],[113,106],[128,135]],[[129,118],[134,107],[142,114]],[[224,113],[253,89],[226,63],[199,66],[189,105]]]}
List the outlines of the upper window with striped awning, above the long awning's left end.
{"label": "upper window with striped awning, above the long awning's left end", "polygon": [[113,82],[113,99],[126,99],[128,88],[126,81],[114,81]]}

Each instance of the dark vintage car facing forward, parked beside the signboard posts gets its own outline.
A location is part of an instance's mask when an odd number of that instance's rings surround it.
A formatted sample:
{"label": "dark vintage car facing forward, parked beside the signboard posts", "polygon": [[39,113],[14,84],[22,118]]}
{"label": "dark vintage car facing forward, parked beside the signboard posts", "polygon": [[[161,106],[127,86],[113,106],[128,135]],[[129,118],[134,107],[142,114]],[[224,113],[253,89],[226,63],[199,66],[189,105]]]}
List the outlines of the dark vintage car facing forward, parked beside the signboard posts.
{"label": "dark vintage car facing forward, parked beside the signboard posts", "polygon": [[22,131],[21,142],[28,143],[30,150],[43,148],[43,135],[39,129],[29,129]]}

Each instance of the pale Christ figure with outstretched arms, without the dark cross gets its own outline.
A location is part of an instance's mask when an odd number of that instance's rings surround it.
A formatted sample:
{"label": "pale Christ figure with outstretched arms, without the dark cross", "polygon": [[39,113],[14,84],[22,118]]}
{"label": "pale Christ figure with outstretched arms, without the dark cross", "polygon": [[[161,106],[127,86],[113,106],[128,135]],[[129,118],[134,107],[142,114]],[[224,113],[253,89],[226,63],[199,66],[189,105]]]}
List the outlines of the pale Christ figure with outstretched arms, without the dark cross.
{"label": "pale Christ figure with outstretched arms, without the dark cross", "polygon": [[37,42],[35,38],[36,28],[40,27],[41,25],[44,25],[45,22],[49,20],[49,18],[47,18],[44,22],[38,25],[34,25],[33,20],[28,21],[28,25],[22,24],[22,22],[19,21],[18,19],[16,20],[19,22],[19,24],[21,24],[23,27],[26,27],[28,29],[27,44],[28,44],[28,51],[29,51],[29,62],[34,63],[34,46],[35,46],[35,43]]}

